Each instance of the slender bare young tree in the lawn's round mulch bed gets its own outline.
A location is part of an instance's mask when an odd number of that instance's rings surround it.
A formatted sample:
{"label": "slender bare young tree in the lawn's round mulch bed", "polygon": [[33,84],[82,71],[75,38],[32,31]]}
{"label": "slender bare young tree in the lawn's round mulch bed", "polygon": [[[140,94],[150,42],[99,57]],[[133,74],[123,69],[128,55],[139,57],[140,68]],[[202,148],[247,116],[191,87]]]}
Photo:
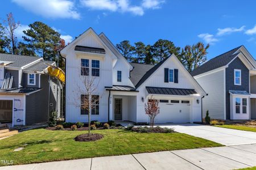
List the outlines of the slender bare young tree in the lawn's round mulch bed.
{"label": "slender bare young tree in the lawn's round mulch bed", "polygon": [[99,80],[96,80],[97,76],[92,76],[89,74],[89,68],[81,67],[81,83],[77,84],[77,91],[75,93],[77,96],[81,97],[81,99],[75,99],[76,101],[81,101],[80,107],[81,110],[88,114],[88,135],[91,136],[90,133],[90,117],[92,115],[92,111],[95,111],[97,105],[100,101],[100,95],[98,94],[98,84]]}

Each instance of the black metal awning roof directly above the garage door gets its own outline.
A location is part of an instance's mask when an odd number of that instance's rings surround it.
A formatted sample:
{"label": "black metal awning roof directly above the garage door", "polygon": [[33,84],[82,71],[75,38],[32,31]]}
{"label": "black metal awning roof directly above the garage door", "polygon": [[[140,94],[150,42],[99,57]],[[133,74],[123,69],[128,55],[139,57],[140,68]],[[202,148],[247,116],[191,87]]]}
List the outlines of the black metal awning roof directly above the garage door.
{"label": "black metal awning roof directly above the garage door", "polygon": [[197,92],[194,89],[187,88],[167,88],[167,87],[146,87],[148,94],[155,95],[196,95]]}

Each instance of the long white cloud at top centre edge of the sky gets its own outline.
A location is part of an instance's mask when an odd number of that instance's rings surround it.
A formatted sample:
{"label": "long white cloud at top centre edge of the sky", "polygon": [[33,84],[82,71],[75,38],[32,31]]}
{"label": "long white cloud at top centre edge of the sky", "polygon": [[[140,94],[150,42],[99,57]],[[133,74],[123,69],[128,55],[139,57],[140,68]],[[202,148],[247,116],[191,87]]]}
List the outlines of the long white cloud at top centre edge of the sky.
{"label": "long white cloud at top centre edge of the sky", "polygon": [[81,5],[90,10],[130,12],[139,16],[144,15],[146,9],[160,8],[163,2],[163,0],[143,0],[141,5],[131,5],[130,0],[80,0]]}

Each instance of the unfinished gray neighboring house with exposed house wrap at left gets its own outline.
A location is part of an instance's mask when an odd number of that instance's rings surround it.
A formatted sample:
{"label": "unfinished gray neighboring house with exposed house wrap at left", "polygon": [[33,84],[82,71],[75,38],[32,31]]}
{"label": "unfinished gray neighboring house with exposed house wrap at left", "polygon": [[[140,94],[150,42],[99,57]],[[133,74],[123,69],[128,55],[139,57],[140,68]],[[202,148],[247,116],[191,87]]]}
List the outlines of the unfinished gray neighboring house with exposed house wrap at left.
{"label": "unfinished gray neighboring house with exposed house wrap at left", "polygon": [[60,116],[60,83],[48,75],[56,66],[42,57],[0,54],[0,123],[31,125]]}

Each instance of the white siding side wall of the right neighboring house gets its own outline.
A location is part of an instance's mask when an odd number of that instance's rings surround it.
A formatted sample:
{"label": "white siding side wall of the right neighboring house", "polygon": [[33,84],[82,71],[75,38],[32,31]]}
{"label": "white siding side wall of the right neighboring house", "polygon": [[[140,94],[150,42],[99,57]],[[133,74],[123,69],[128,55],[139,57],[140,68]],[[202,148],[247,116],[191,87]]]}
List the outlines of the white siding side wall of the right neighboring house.
{"label": "white siding side wall of the right neighboring house", "polygon": [[203,117],[208,110],[210,118],[225,120],[225,69],[195,79],[208,94],[203,98]]}

